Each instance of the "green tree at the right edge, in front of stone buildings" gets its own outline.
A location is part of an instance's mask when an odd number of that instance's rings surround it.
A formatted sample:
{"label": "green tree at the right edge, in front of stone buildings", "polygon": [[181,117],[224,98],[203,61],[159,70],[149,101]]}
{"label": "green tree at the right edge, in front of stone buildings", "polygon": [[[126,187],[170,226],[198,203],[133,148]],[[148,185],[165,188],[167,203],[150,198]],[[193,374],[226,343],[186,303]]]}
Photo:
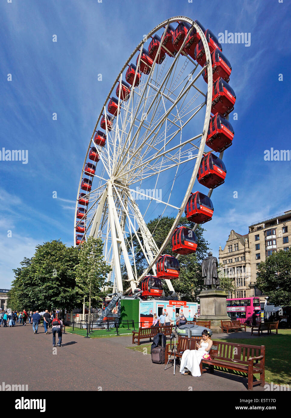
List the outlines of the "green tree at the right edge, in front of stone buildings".
{"label": "green tree at the right edge, in front of stone buildings", "polygon": [[275,306],[291,306],[291,248],[269,255],[258,267],[257,287]]}

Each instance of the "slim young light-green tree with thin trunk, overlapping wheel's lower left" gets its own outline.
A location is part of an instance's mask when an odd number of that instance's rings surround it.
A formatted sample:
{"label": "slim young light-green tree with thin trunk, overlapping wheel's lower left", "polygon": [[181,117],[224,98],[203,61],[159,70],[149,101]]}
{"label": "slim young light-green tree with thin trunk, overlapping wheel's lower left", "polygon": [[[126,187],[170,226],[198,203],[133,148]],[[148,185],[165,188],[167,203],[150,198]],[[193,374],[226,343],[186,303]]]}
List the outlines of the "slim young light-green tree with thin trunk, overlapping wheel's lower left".
{"label": "slim young light-green tree with thin trunk, overlapping wheel's lower left", "polygon": [[[76,291],[81,289],[82,295],[89,301],[89,329],[91,304],[98,303],[105,298],[108,292],[101,291],[104,287],[111,267],[103,257],[103,242],[101,238],[88,237],[78,250],[79,263],[76,265]],[[106,283],[111,284],[111,283]]]}

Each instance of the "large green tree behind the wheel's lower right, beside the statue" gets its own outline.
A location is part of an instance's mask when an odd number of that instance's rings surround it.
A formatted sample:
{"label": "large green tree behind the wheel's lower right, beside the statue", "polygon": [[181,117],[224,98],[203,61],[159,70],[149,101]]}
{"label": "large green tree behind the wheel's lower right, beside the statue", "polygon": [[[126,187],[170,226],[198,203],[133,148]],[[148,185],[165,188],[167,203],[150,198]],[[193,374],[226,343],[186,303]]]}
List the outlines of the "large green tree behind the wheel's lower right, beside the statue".
{"label": "large green tree behind the wheel's lower right, beside the statue", "polygon": [[[167,237],[169,229],[172,227],[174,223],[174,220],[175,218],[173,217],[164,216],[157,217],[148,222],[147,227],[149,229],[149,232],[151,232],[152,237],[154,238],[157,244],[157,247],[160,248],[162,246],[163,242],[165,241],[165,238]],[[188,221],[186,217],[181,217],[178,227],[182,225],[189,229],[193,229],[195,223]],[[203,229],[201,225],[198,225],[198,227],[196,228],[195,233],[198,239],[197,250],[195,253],[192,254],[180,255],[180,275],[178,279],[172,280],[175,292],[183,300],[196,301],[197,295],[203,289],[203,278],[200,264],[203,258],[207,256],[207,251],[209,250],[209,243],[206,242],[206,240],[203,237],[204,230],[205,229]],[[142,235],[139,231],[137,231],[137,234],[139,235],[139,240],[143,243]],[[141,275],[148,266],[147,260],[144,257],[144,254],[141,250],[141,247],[135,234],[131,234],[131,236],[129,236],[129,242],[131,242],[131,240],[134,247],[134,259],[136,270],[138,275]],[[129,254],[132,254],[130,247],[128,247],[128,250]],[[165,248],[164,254],[176,256],[176,253],[172,251],[171,242],[169,242],[167,247]],[[123,273],[123,280],[124,288],[127,288],[129,286],[129,282],[125,281],[128,280],[125,267]],[[167,296],[169,294],[169,291],[165,283],[164,289],[165,295]]]}

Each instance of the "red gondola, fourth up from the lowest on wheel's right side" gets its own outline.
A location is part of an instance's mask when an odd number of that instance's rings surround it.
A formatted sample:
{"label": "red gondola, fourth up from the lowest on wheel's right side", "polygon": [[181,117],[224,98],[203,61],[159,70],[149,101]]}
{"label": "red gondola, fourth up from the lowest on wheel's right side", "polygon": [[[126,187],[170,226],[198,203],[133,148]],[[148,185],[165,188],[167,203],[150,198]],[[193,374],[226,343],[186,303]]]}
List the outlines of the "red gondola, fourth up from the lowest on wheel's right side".
{"label": "red gondola, fourth up from the lowest on wheel's right side", "polygon": [[213,204],[208,196],[196,191],[191,193],[185,207],[185,214],[188,221],[196,224],[204,224],[211,220],[213,215]]}

